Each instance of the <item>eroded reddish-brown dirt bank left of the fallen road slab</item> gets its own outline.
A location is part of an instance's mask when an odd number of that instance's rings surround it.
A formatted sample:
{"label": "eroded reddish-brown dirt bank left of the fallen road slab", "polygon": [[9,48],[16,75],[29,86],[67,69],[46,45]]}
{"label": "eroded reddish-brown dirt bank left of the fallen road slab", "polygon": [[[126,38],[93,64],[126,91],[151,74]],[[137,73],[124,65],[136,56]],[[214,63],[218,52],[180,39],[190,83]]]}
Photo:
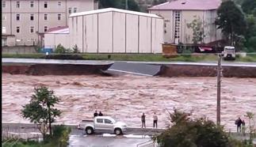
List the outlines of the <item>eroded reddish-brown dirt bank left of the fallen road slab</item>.
{"label": "eroded reddish-brown dirt bank left of the fallen road slab", "polygon": [[3,65],[2,73],[29,75],[86,75],[101,74],[109,65],[69,65],[69,64],[36,64],[36,65]]}

